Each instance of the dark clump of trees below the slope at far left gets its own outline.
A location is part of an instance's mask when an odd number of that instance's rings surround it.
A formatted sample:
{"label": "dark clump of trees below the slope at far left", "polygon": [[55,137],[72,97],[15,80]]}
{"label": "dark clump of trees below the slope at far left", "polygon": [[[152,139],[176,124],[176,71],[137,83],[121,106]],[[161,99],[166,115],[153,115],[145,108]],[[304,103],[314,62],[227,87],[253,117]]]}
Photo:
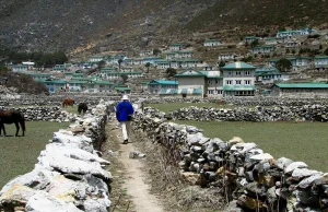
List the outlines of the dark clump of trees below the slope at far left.
{"label": "dark clump of trees below the slope at far left", "polygon": [[68,61],[68,57],[63,51],[56,52],[20,52],[1,50],[0,56],[4,58],[2,63],[21,63],[23,61],[35,62],[36,68],[51,68],[55,64],[62,64]]}

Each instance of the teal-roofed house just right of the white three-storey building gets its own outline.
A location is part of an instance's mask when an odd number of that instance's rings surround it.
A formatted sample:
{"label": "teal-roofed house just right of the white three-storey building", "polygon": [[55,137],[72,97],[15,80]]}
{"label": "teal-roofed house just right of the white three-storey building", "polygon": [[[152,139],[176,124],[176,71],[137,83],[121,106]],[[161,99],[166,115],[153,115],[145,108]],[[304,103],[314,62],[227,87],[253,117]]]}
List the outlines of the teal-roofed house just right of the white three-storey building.
{"label": "teal-roofed house just right of the white three-storey building", "polygon": [[260,67],[255,70],[255,82],[260,84],[273,84],[277,81],[288,81],[289,74],[280,72],[274,67]]}

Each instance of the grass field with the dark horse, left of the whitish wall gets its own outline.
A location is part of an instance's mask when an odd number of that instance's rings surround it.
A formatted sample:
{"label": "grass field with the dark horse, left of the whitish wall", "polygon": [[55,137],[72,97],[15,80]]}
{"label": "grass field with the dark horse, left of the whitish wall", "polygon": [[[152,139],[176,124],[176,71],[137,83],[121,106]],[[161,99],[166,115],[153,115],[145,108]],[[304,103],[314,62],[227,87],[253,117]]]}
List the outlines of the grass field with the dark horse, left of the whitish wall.
{"label": "grass field with the dark horse, left of the whitish wall", "polygon": [[0,137],[0,188],[15,176],[31,172],[54,132],[70,123],[26,121],[25,125],[25,137],[13,137],[14,125],[5,125],[8,137]]}

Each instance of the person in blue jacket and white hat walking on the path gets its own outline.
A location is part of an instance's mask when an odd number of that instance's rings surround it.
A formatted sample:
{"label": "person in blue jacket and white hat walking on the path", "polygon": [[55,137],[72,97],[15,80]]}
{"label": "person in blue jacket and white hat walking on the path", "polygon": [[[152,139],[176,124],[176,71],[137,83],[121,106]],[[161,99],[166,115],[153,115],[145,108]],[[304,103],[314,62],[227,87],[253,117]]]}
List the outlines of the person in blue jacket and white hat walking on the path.
{"label": "person in blue jacket and white hat walking on the path", "polygon": [[120,122],[124,144],[128,144],[130,133],[130,121],[134,109],[132,104],[129,102],[129,97],[124,95],[121,102],[116,107],[116,119]]}

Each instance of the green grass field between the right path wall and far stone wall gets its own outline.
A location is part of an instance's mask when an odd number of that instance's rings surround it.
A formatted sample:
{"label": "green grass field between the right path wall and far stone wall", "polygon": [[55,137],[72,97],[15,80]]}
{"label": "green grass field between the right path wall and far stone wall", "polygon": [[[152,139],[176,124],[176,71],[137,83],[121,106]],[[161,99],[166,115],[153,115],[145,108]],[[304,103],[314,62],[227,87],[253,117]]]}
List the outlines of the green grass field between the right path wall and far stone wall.
{"label": "green grass field between the right path wall and far stone wall", "polygon": [[328,130],[325,122],[218,122],[175,121],[203,129],[209,138],[224,141],[241,137],[254,142],[276,158],[303,161],[311,168],[328,172]]}

